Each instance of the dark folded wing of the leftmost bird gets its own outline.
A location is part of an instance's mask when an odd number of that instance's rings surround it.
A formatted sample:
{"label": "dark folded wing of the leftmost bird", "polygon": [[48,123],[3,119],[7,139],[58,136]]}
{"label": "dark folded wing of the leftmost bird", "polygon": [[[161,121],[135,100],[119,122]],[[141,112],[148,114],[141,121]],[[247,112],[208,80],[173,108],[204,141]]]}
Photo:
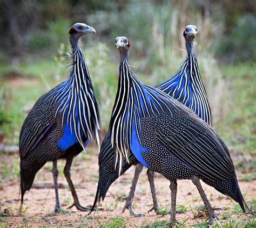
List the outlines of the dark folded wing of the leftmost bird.
{"label": "dark folded wing of the leftmost bird", "polygon": [[19,136],[19,154],[21,158],[32,151],[56,124],[55,108],[48,104],[35,104],[26,117]]}

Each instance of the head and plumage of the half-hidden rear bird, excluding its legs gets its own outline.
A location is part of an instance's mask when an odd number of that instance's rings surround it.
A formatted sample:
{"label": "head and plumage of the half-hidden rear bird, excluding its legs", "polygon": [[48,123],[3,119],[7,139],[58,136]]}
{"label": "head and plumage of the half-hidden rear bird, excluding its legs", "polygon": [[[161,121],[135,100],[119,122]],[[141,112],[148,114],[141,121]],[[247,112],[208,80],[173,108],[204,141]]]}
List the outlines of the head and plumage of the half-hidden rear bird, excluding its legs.
{"label": "head and plumage of the half-hidden rear bird, excluding its legs", "polygon": [[[205,120],[206,123],[211,125],[210,105],[208,104],[206,91],[201,81],[196,54],[193,49],[193,40],[196,37],[197,33],[198,30],[196,26],[187,25],[185,27],[183,35],[186,42],[187,56],[184,59],[183,64],[178,72],[174,76],[170,77],[170,79],[158,84],[156,88],[164,91],[166,94],[185,104],[188,108],[193,110],[200,118]],[[112,148],[112,146],[109,145],[109,137],[110,133],[108,132],[100,148],[99,186],[102,186],[102,190],[99,191],[99,193],[105,193],[109,188],[109,183],[112,183],[118,178],[118,175],[116,174],[118,170],[113,168],[113,159],[115,158],[116,152]],[[107,159],[109,163],[103,160],[105,156],[109,158]],[[134,156],[131,154],[129,157],[129,163],[125,162],[125,159],[122,162],[124,166],[122,166],[122,170],[120,172],[121,174],[129,169],[131,165],[137,165],[138,160],[134,158]],[[103,169],[105,170],[105,172],[102,171]],[[110,173],[112,173],[112,175],[110,175]],[[102,182],[102,180],[104,180],[105,182]],[[102,197],[104,198],[104,196]]]}

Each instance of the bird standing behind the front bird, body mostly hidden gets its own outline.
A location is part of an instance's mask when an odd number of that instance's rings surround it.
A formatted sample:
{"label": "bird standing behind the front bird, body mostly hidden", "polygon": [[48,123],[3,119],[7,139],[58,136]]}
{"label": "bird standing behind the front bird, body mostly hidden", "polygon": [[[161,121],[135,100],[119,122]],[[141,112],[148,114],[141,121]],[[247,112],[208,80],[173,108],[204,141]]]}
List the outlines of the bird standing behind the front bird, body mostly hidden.
{"label": "bird standing behind the front bird, body mostly hidden", "polygon": [[[187,25],[183,31],[183,36],[185,38],[187,56],[183,60],[178,72],[173,75],[170,79],[161,82],[156,86],[156,88],[162,90],[166,94],[177,99],[179,102],[185,104],[188,108],[194,111],[201,119],[205,120],[206,123],[211,125],[211,109],[208,103],[208,98],[206,91],[201,81],[201,76],[199,72],[199,67],[197,63],[196,53],[193,48],[194,38],[198,34],[198,28],[196,25]],[[111,147],[110,143],[110,133],[108,132],[102,142],[99,153],[99,183],[98,195],[96,194],[96,201],[98,198],[104,200],[107,190],[110,184],[116,180],[119,175],[117,169],[113,168],[114,161],[111,159],[115,154],[114,149]],[[133,216],[143,216],[143,213],[136,213],[132,209],[132,201],[134,197],[134,191],[138,181],[140,172],[142,172],[143,165],[138,162],[138,160],[131,154],[129,157],[129,163],[122,161],[123,166],[121,174],[125,173],[132,165],[137,165],[134,178],[132,181],[131,190],[129,196],[126,198],[125,209],[129,209],[131,215]],[[153,207],[149,210],[154,210],[158,213],[158,201],[156,195],[156,188],[154,186],[154,173],[148,169],[147,176],[150,182],[151,194],[153,198]],[[104,180],[104,182],[103,182]],[[92,208],[94,209],[94,208]],[[170,213],[166,211],[166,213]]]}

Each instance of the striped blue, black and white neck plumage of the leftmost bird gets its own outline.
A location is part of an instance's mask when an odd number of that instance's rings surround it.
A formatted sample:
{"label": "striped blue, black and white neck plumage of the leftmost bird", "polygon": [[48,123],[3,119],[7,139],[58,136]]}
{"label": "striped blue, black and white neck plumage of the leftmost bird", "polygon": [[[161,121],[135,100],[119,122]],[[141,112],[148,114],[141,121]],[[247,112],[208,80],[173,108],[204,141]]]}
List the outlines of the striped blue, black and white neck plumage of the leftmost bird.
{"label": "striped blue, black and white neck plumage of the leftmost bird", "polygon": [[63,123],[69,126],[78,143],[84,148],[85,139],[96,139],[99,144],[98,106],[93,94],[89,71],[78,40],[70,39],[72,68],[69,79],[58,89],[60,100],[58,111],[62,112]]}

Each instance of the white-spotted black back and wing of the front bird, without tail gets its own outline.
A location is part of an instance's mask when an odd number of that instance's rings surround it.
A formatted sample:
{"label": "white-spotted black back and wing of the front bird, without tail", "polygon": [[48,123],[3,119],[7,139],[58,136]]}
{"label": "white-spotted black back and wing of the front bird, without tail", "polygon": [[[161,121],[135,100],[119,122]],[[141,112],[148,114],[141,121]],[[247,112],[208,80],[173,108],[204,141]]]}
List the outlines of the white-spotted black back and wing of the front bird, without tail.
{"label": "white-spotted black back and wing of the front bird, without tail", "polygon": [[170,180],[196,174],[219,181],[233,175],[226,145],[211,126],[173,99],[169,106],[171,113],[140,119],[140,140],[148,151],[142,156],[147,165]]}

